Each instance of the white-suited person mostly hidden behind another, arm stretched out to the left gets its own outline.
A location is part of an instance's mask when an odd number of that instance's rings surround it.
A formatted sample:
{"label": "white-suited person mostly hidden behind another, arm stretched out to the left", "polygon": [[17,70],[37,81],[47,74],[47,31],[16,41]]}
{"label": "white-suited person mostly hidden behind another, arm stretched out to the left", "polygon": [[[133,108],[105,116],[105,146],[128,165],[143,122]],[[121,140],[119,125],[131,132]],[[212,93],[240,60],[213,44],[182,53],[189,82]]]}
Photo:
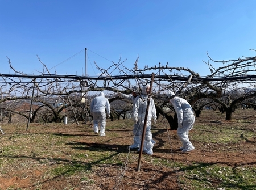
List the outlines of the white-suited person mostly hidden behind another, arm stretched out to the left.
{"label": "white-suited person mostly hidden behind another, arm stretched out to the left", "polygon": [[[120,96],[121,98],[133,103],[133,109],[134,109],[134,105],[135,105],[135,100],[138,96],[139,93],[139,87],[138,86],[134,86],[133,87],[133,93],[134,95],[126,95],[126,94],[122,94],[120,92],[118,92],[118,96]],[[139,123],[136,123],[133,125],[133,145],[130,146],[131,149],[137,149],[139,148],[139,146],[141,145],[141,129],[139,129]]]}

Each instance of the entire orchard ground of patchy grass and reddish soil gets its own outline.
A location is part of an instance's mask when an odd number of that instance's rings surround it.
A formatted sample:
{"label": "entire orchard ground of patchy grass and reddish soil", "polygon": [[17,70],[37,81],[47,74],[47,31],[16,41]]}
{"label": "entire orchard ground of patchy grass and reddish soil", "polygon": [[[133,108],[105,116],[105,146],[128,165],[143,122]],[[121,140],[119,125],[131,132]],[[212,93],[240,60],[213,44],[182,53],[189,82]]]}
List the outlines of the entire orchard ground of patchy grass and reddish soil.
{"label": "entire orchard ground of patchy grass and reddish soil", "polygon": [[181,153],[165,119],[152,126],[154,154],[129,150],[131,120],[107,120],[106,136],[90,124],[0,124],[0,189],[256,189],[256,112],[233,121],[203,111]]}

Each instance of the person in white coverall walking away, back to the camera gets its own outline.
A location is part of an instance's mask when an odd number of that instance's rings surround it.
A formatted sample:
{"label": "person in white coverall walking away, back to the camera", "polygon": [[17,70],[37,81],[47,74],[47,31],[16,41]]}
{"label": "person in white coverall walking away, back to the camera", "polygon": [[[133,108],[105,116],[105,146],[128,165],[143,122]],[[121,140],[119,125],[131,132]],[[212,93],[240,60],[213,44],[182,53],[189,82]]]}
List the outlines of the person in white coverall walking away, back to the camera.
{"label": "person in white coverall walking away, back to the camera", "polygon": [[110,104],[109,100],[105,98],[103,92],[100,92],[90,104],[90,115],[93,116],[93,130],[94,133],[98,133],[98,124],[100,123],[100,136],[105,136],[106,116],[110,116]]}

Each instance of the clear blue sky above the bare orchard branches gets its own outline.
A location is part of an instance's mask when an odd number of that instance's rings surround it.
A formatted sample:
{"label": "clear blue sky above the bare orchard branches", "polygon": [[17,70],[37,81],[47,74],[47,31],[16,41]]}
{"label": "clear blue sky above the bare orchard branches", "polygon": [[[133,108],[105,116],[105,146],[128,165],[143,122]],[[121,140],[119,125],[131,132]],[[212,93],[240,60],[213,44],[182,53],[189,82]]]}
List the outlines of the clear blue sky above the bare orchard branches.
{"label": "clear blue sky above the bare orchard branches", "polygon": [[[119,58],[130,69],[188,67],[256,56],[255,0],[0,0],[0,73],[98,75]],[[221,65],[216,65],[216,67]]]}

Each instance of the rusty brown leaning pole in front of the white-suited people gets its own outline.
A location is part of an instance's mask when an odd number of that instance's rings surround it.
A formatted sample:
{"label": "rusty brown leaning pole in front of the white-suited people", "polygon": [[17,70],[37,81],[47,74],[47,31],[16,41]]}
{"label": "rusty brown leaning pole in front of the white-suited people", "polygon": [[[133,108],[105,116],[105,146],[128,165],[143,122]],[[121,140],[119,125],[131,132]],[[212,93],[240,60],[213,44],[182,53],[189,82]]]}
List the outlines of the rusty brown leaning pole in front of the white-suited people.
{"label": "rusty brown leaning pole in front of the white-suited people", "polygon": [[[154,77],[155,77],[155,74],[152,73],[151,82],[150,82],[150,93],[149,94],[151,94],[151,91],[152,91]],[[145,133],[146,133],[147,115],[148,115],[149,105],[150,105],[150,98],[147,99],[147,109],[146,109],[146,113],[145,113],[144,126],[143,126],[143,132],[142,132],[142,137],[141,137],[141,146],[140,146],[141,149],[139,150],[139,160],[138,160],[138,166],[137,166],[138,171],[141,170],[141,158],[142,158],[142,153],[143,153],[143,143],[144,143],[144,138],[145,138]]]}

